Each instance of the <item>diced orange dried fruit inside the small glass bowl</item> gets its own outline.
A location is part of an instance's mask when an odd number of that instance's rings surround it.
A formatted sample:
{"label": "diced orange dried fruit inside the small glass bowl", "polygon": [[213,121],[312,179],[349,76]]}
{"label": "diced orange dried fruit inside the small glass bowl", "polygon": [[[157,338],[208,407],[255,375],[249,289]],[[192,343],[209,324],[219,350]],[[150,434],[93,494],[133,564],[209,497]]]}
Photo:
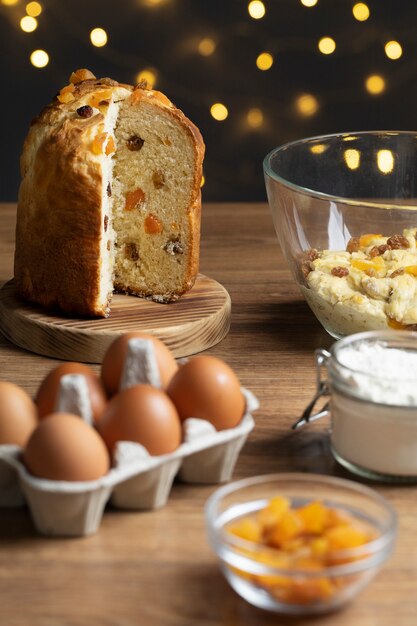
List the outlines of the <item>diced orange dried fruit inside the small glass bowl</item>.
{"label": "diced orange dried fruit inside the small glass bowl", "polygon": [[347,578],[327,577],[326,568],[361,558],[343,551],[375,539],[366,526],[343,509],[327,507],[320,501],[291,508],[287,498],[281,496],[227,529],[256,544],[256,550],[242,547],[242,555],[276,571],[250,574],[231,569],[281,602],[298,605],[329,601],[350,584]]}

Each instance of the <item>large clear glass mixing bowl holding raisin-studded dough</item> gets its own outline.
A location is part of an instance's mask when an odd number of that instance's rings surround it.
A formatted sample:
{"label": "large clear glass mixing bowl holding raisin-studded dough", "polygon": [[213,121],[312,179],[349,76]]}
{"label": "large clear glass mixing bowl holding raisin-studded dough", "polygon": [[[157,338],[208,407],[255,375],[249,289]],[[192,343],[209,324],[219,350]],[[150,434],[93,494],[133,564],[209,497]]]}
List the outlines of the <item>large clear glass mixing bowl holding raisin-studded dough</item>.
{"label": "large clear glass mixing bowl holding raisin-studded dough", "polygon": [[368,279],[375,274],[379,278],[383,254],[378,255],[376,272],[371,258],[371,264],[360,270],[364,281],[354,294],[340,293],[344,279],[340,282],[340,276],[332,275],[324,296],[323,281],[314,288],[309,274],[316,251],[346,251],[352,238],[391,237],[417,227],[417,132],[342,133],[295,141],[265,157],[264,174],[281,249],[324,328],[336,338],[388,327],[412,328],[417,323],[417,256],[415,266],[407,261],[409,274],[398,281],[408,286],[397,290],[408,307],[404,316],[401,306],[391,302],[395,289],[389,281],[381,283],[384,294],[369,298],[375,281]]}

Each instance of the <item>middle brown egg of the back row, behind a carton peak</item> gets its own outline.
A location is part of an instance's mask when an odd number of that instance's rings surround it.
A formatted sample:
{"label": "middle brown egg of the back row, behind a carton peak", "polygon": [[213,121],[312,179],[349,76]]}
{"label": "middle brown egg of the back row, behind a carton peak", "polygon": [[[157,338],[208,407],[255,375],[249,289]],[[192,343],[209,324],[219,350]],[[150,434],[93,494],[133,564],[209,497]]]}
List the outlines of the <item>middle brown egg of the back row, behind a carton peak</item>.
{"label": "middle brown egg of the back row, behind a carton peak", "polygon": [[43,379],[35,398],[39,409],[39,417],[43,418],[45,415],[50,415],[55,411],[59,382],[66,374],[83,374],[86,377],[93,420],[96,423],[106,407],[107,397],[99,377],[88,365],[83,365],[82,363],[68,362],[58,365]]}

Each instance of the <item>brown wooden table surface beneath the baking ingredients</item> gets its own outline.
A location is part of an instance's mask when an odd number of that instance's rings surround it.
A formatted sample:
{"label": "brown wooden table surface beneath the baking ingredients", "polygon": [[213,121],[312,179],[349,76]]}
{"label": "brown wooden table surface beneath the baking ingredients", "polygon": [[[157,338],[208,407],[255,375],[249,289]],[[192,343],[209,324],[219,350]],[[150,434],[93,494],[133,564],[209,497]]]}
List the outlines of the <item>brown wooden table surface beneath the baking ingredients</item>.
{"label": "brown wooden table surface beneath the baking ingredients", "polygon": [[[14,224],[15,207],[1,205],[0,284],[12,276]],[[234,478],[283,471],[351,477],[332,460],[326,421],[290,430],[315,388],[313,351],[332,340],[301,299],[265,204],[203,207],[201,271],[222,283],[232,298],[230,332],[208,352],[226,360],[261,404]],[[57,363],[0,335],[0,380],[34,394]],[[375,488],[399,514],[395,552],[351,605],[316,620],[256,609],[228,586],[204,528],[203,507],[214,486],[174,484],[163,509],[108,510],[96,534],[77,539],[44,538],[26,509],[2,509],[0,624],[415,625],[416,488]]]}

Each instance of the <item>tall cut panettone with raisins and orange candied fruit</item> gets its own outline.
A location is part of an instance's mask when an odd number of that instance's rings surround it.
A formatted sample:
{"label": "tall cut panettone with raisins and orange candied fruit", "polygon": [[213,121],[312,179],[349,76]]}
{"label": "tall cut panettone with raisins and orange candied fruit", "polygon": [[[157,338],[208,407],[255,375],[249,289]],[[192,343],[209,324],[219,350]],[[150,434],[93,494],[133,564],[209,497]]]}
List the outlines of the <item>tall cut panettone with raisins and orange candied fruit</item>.
{"label": "tall cut panettone with raisins and orange candied fruit", "polygon": [[198,271],[203,155],[162,93],[75,72],[24,144],[18,292],[86,316],[113,291],[177,299]]}

